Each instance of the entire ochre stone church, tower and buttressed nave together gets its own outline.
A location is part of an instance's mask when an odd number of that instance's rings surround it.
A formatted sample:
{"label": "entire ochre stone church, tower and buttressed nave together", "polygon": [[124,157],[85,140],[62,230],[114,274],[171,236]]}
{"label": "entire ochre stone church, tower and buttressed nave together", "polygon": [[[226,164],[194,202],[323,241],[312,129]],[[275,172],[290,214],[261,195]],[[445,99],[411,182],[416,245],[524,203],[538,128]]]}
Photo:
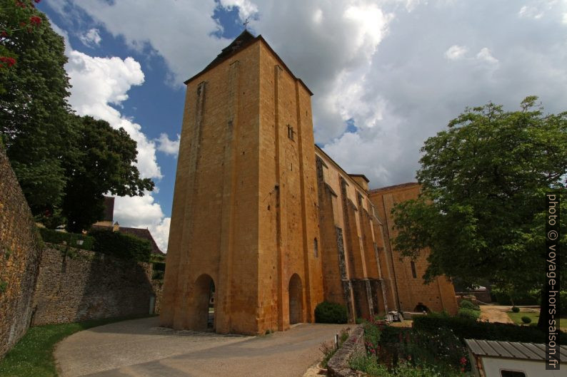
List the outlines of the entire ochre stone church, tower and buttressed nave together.
{"label": "entire ochre stone church, tower and buttressed nave together", "polygon": [[318,148],[313,93],[264,38],[244,31],[185,83],[162,326],[265,334],[322,301],[352,322],[456,313],[453,284],[392,248],[390,211],[418,184],[368,190]]}

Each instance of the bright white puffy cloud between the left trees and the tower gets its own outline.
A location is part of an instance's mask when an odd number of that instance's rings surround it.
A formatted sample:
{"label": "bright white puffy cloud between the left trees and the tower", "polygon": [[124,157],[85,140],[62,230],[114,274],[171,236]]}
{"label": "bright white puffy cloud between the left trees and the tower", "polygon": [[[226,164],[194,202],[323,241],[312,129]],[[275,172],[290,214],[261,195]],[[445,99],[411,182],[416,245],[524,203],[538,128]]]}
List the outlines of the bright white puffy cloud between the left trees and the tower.
{"label": "bright white puffy cloud between the left trees and the tower", "polygon": [[[79,115],[91,115],[106,120],[113,128],[124,128],[136,141],[141,177],[161,178],[156,162],[156,143],[149,140],[141,125],[121,115],[111,106],[120,106],[128,99],[132,86],[144,83],[144,73],[134,58],[99,58],[73,50],[64,31],[54,30],[65,38],[65,53],[69,58],[65,68],[72,85],[69,104]],[[158,191],[158,187],[154,190]],[[151,192],[143,197],[116,197],[114,220],[124,227],[148,228],[162,251],[166,252],[169,237],[169,217],[165,217]]]}

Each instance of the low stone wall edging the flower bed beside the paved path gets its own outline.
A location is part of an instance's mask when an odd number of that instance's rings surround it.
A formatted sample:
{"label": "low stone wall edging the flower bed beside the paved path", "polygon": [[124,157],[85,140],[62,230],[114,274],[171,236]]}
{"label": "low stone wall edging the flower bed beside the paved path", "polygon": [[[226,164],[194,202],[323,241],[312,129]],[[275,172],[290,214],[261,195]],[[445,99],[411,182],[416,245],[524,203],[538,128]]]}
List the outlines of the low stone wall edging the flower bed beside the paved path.
{"label": "low stone wall edging the flower bed beside the paved path", "polygon": [[348,361],[356,354],[365,354],[364,348],[364,329],[362,326],[356,327],[348,336],[348,339],[343,343],[341,348],[333,355],[331,360],[327,363],[327,376],[328,377],[361,377],[366,376],[366,373],[361,371],[354,371],[348,366]]}

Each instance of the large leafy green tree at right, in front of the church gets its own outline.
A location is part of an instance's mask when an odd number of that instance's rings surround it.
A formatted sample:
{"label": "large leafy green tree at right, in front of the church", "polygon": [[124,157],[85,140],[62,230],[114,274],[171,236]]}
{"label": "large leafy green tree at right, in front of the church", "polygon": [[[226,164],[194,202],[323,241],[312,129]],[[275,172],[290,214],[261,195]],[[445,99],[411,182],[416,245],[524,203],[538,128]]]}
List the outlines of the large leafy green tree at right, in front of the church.
{"label": "large leafy green tree at right, in front of the church", "polygon": [[545,192],[562,192],[567,209],[567,113],[544,115],[536,100],[526,98],[513,112],[493,103],[467,108],[426,140],[417,172],[421,196],[393,210],[396,248],[410,257],[430,251],[426,281],[445,274],[469,284],[488,279],[518,291],[541,289]]}

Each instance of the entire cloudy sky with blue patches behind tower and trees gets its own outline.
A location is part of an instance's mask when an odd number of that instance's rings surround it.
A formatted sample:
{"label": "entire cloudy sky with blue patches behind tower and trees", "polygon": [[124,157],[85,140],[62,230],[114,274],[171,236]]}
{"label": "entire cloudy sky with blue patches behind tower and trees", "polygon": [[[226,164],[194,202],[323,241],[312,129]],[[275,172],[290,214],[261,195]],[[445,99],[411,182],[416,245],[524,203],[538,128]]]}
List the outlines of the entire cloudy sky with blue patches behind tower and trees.
{"label": "entire cloudy sky with blue patches behind tower and trees", "polygon": [[316,143],[371,187],[415,180],[423,141],[466,106],[567,110],[567,1],[44,0],[66,37],[71,103],[124,127],[156,190],[115,220],[166,249],[183,81],[261,34],[314,95]]}

